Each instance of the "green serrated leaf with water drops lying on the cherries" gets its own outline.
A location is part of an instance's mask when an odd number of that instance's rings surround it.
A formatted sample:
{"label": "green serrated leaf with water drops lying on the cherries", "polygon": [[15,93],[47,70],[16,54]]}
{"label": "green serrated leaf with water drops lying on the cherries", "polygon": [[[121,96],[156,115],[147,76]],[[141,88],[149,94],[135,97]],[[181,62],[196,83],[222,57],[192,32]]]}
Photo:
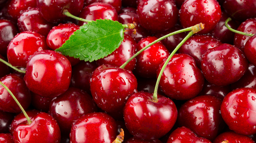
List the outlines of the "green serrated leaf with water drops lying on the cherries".
{"label": "green serrated leaf with water drops lying on the cherries", "polygon": [[84,24],[55,51],[85,61],[94,61],[114,52],[124,39],[124,27],[113,20]]}

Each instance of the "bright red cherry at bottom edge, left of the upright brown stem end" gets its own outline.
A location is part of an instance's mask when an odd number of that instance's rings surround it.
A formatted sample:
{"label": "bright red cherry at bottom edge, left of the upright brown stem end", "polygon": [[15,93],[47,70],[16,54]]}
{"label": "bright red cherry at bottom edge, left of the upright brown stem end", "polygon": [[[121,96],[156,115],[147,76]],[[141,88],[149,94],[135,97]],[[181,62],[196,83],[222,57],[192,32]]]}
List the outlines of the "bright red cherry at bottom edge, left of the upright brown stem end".
{"label": "bright red cherry at bottom edge, left of the upright brown stem end", "polygon": [[72,125],[70,143],[112,143],[116,135],[117,124],[111,116],[101,112],[89,113]]}

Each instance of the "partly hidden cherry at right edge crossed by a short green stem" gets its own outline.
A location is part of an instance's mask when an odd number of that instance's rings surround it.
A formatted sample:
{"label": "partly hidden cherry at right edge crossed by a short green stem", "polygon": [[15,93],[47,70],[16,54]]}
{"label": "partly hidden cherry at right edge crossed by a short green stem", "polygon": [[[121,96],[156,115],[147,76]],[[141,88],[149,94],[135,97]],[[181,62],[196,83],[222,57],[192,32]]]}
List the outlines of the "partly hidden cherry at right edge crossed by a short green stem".
{"label": "partly hidden cherry at right edge crossed by a short green stem", "polygon": [[[238,26],[236,30],[256,34],[256,18],[245,20]],[[234,37],[234,45],[240,50],[244,51],[245,43],[249,38],[251,37],[236,33]]]}

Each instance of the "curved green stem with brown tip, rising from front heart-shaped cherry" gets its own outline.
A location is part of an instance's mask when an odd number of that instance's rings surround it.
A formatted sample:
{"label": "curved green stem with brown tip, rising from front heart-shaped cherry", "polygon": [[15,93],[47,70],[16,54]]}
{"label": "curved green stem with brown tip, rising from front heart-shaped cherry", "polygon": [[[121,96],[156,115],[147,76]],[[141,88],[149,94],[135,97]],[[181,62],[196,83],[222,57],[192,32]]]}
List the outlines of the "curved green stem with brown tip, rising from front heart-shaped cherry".
{"label": "curved green stem with brown tip, rising from front heart-shaped cherry", "polygon": [[157,78],[157,83],[156,83],[156,86],[155,86],[155,90],[154,90],[154,94],[153,94],[153,101],[154,102],[158,102],[158,99],[157,99],[157,91],[158,91],[158,85],[159,85],[159,82],[160,82],[160,78],[163,74],[163,71],[165,69],[165,67],[167,66],[167,64],[169,63],[170,59],[172,58],[172,56],[178,51],[178,49],[181,47],[181,45],[183,43],[185,43],[186,40],[188,40],[189,37],[191,37],[193,34],[201,31],[204,29],[204,24],[200,23],[200,24],[196,24],[195,26],[192,26],[191,30],[188,35],[176,46],[176,48],[172,51],[172,53],[170,54],[170,56],[166,59],[165,63],[163,64],[163,67],[158,75],[158,78]]}

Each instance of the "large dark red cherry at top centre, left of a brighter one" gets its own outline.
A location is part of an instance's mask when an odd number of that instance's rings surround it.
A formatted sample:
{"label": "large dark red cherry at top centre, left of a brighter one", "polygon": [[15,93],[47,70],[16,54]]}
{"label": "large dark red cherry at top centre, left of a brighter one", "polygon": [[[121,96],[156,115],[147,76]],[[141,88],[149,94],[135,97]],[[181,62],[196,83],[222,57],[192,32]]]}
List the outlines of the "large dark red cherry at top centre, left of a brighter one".
{"label": "large dark red cherry at top centre, left of a brighter one", "polygon": [[141,26],[152,32],[174,27],[179,18],[178,9],[172,0],[141,0],[137,12]]}

